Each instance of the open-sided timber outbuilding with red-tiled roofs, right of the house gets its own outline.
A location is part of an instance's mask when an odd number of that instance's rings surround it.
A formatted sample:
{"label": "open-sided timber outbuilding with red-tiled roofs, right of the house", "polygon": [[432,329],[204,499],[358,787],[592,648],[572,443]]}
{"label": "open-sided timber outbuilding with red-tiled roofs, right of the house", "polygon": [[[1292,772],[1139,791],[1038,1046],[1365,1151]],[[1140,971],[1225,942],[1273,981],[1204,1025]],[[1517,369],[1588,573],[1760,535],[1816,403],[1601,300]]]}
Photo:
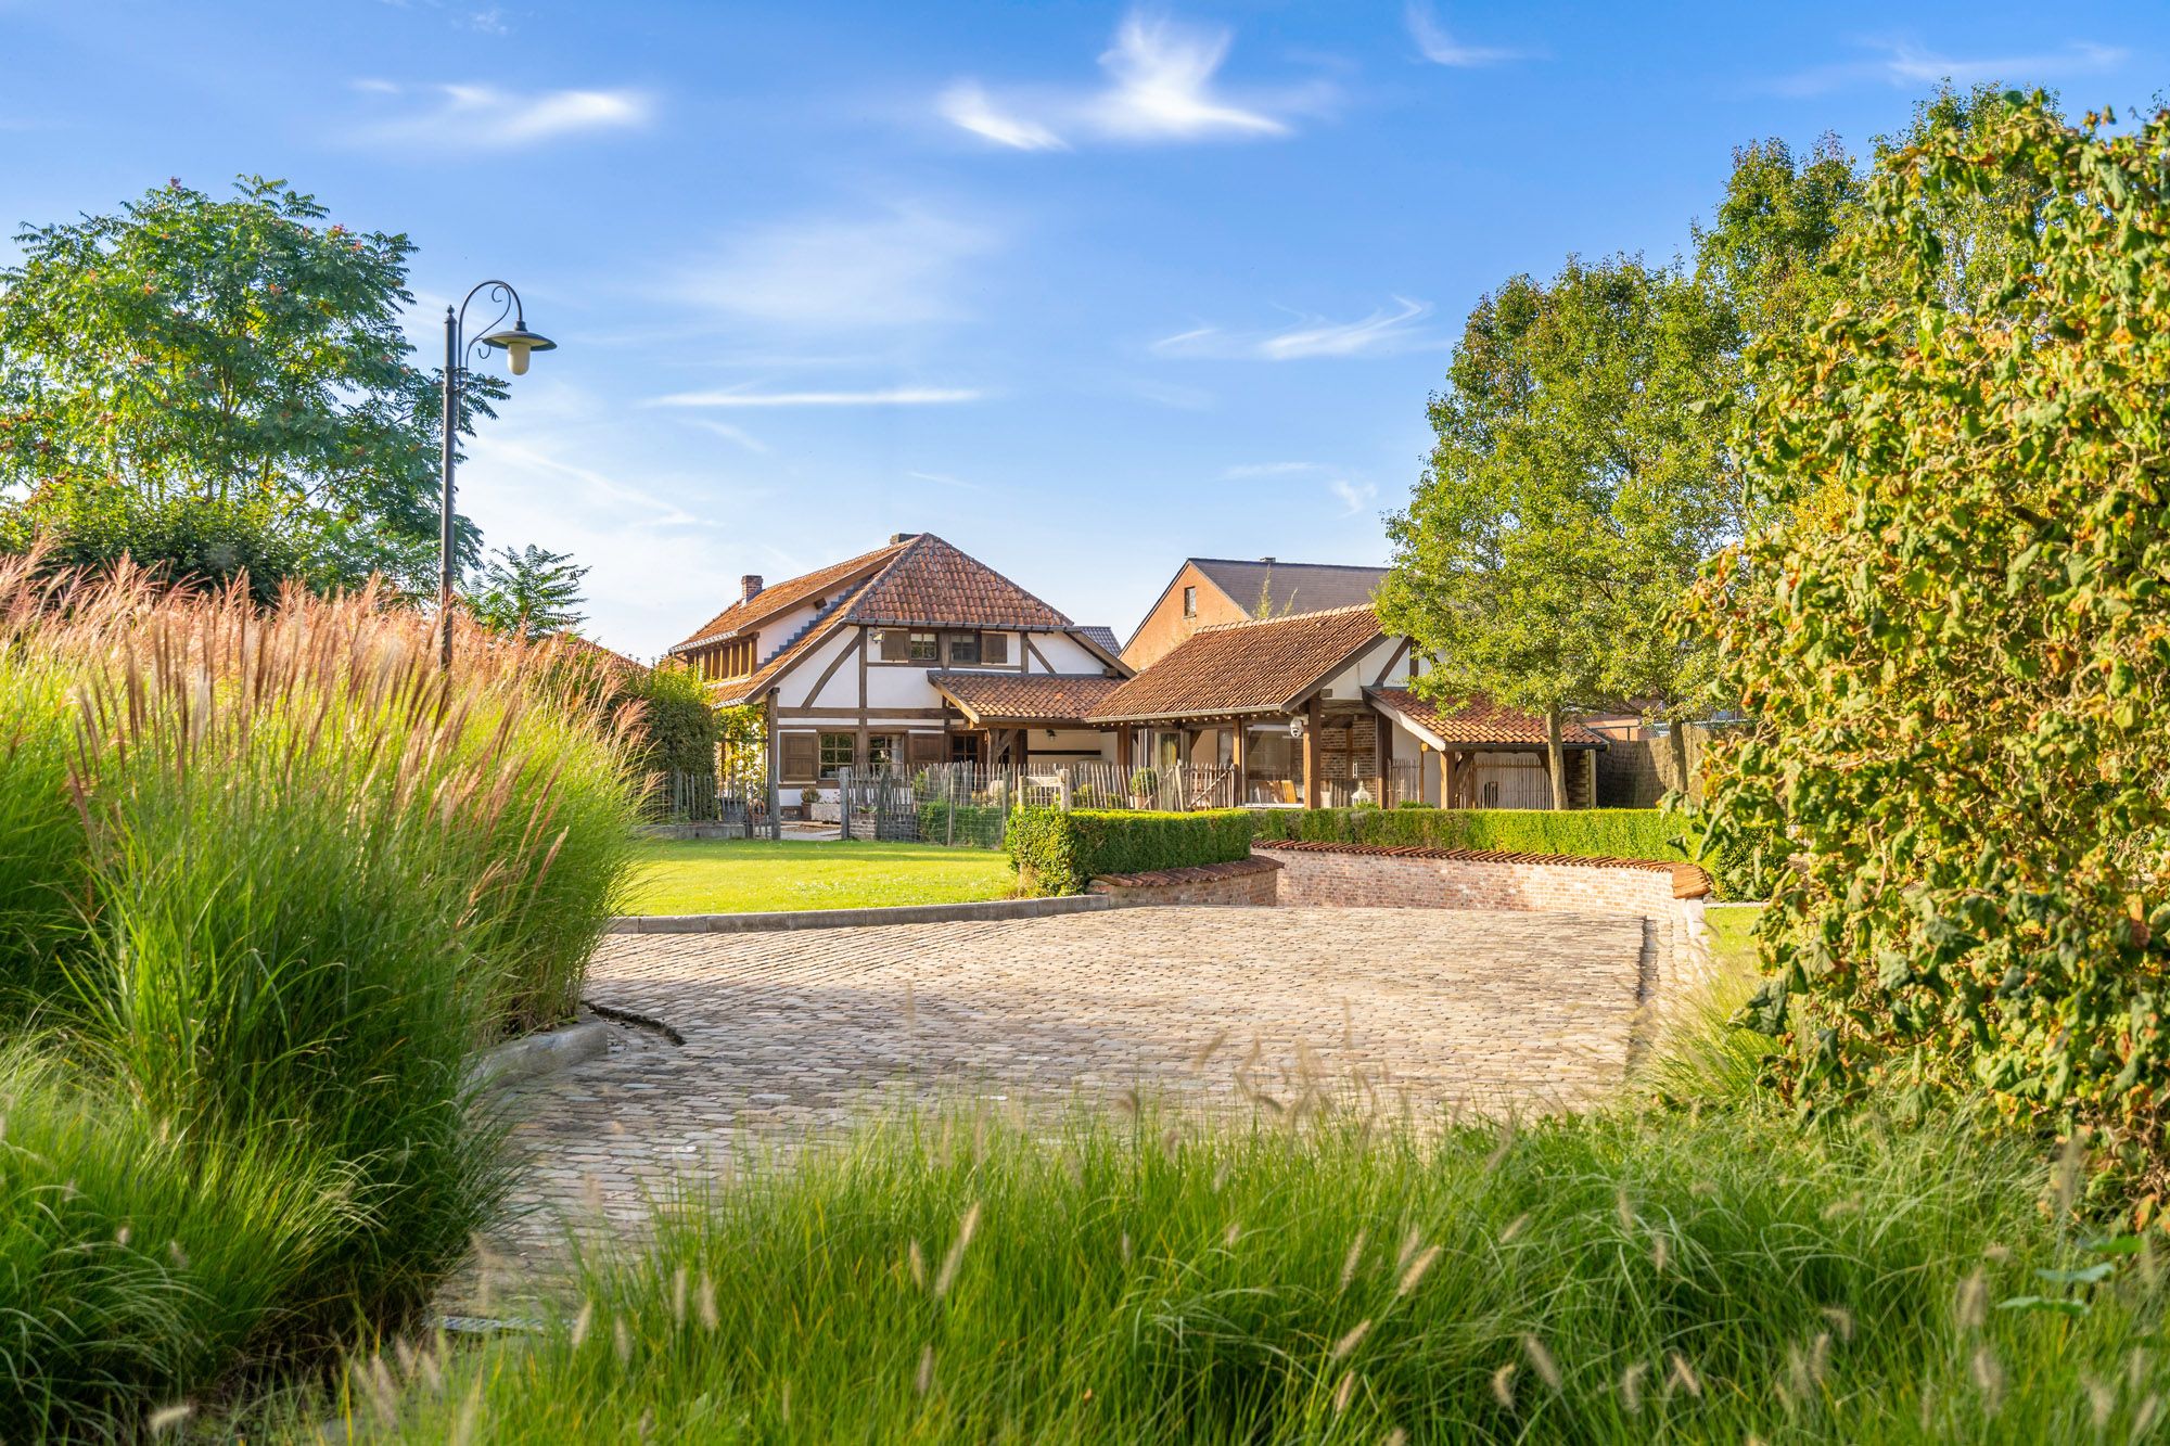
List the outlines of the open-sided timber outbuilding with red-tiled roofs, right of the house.
{"label": "open-sided timber outbuilding with red-tiled roofs, right of the house", "polygon": [[[1410,693],[1426,671],[1371,604],[1215,623],[1113,686],[1092,721],[1118,764],[1226,775],[1228,803],[1426,801],[1549,808],[1545,723],[1473,699],[1441,710]],[[1532,749],[1534,743],[1534,749]],[[1604,738],[1567,727],[1569,808],[1588,808]]]}

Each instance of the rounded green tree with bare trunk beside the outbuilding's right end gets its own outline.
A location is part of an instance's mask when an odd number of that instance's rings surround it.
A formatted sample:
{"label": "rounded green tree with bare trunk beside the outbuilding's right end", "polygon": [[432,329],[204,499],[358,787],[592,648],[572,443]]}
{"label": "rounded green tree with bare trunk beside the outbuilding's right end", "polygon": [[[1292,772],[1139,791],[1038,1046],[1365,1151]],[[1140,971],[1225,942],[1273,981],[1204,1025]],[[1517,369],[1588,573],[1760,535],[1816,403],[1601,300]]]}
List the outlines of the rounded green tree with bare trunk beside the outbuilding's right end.
{"label": "rounded green tree with bare trunk beside the outbuilding's right end", "polygon": [[1380,614],[1439,660],[1419,686],[1545,716],[1554,806],[1569,710],[1710,708],[1710,651],[1677,630],[1734,525],[1723,426],[1703,406],[1727,343],[1723,313],[1677,271],[1569,261],[1549,284],[1484,297],[1432,397],[1430,465],[1387,523]]}

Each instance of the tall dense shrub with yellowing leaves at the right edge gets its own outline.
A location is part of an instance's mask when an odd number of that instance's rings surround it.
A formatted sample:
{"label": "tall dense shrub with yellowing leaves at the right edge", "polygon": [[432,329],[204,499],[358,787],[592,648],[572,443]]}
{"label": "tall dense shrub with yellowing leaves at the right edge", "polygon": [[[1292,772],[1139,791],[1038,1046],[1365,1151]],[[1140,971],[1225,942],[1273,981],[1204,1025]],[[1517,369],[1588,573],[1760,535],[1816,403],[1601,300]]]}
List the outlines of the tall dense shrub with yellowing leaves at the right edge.
{"label": "tall dense shrub with yellowing leaves at the right edge", "polygon": [[[1986,1092],[2159,1192],[2170,1090],[2170,113],[1931,109],[1840,261],[1890,291],[1751,354],[1784,519],[1706,580],[1782,834],[1751,1018],[1803,1109]],[[1953,217],[1986,239],[1953,269]],[[1983,217],[2001,217],[1990,234]],[[1955,284],[1962,282],[1962,284]]]}

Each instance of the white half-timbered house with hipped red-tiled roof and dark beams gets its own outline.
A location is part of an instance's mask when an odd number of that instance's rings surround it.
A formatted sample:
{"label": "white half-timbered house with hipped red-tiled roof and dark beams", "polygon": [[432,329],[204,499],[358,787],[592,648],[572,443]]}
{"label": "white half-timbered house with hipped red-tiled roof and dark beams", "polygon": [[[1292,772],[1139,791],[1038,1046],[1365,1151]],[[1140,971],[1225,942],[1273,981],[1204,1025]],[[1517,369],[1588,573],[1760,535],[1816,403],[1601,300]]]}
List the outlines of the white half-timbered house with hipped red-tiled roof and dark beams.
{"label": "white half-timbered house with hipped red-tiled roof and dark beams", "polygon": [[1105,627],[931,532],[777,586],[749,575],[671,656],[718,706],[766,706],[770,777],[794,790],[842,769],[1100,758],[1105,736],[1065,710],[1128,675]]}

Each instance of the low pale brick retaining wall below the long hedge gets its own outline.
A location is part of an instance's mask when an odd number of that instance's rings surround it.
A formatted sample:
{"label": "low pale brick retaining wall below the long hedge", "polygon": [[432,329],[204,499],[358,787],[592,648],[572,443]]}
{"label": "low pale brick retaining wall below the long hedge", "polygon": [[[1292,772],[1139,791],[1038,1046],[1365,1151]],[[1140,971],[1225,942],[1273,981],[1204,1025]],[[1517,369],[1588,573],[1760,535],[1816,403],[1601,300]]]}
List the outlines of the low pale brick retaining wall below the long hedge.
{"label": "low pale brick retaining wall below the long hedge", "polygon": [[1278,838],[1252,853],[1280,864],[1285,905],[1641,914],[1660,997],[1710,977],[1710,875],[1695,864]]}

